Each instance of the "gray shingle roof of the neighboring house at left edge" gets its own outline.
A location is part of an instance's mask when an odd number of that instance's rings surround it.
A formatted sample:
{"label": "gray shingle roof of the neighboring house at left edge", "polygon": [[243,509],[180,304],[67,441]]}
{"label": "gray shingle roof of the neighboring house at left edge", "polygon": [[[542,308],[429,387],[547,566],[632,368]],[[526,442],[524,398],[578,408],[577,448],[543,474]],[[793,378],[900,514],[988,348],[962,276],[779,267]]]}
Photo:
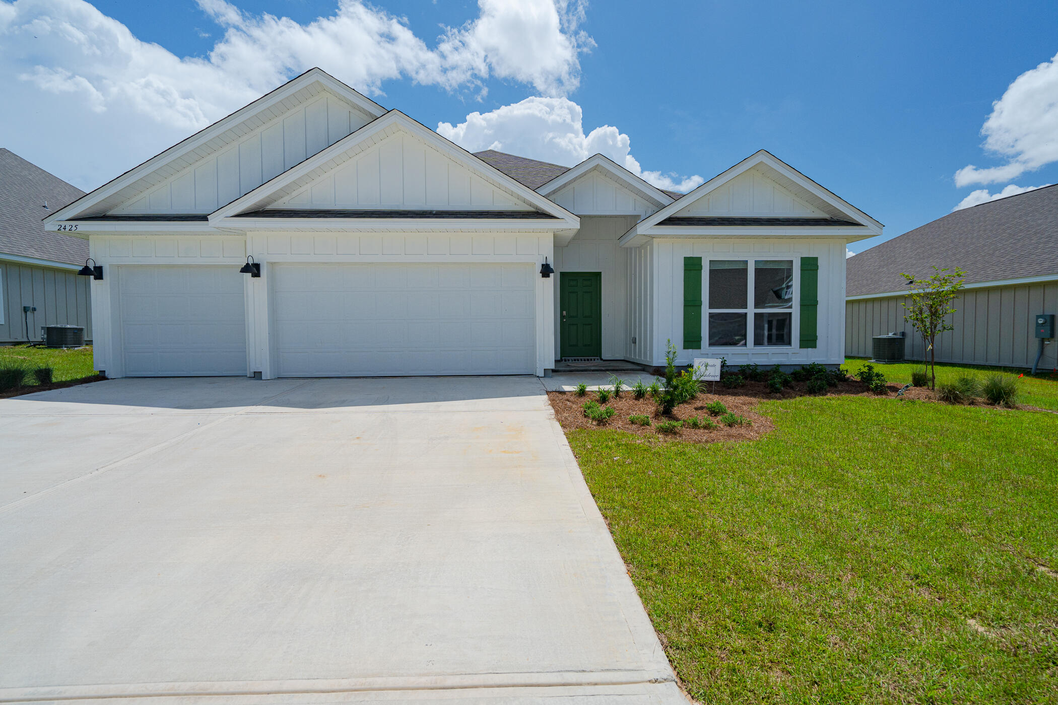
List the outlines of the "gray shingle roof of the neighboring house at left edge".
{"label": "gray shingle roof of the neighboring house at left edge", "polygon": [[0,254],[84,264],[87,240],[48,233],[40,222],[83,196],[76,186],[0,147]]}

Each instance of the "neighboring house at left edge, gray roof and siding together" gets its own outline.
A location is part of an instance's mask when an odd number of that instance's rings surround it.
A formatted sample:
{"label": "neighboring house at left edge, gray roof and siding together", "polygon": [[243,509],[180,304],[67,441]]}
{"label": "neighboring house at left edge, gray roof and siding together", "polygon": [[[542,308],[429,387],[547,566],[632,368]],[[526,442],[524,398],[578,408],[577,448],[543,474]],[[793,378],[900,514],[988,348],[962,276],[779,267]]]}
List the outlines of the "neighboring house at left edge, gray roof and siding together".
{"label": "neighboring house at left edge, gray roof and siding together", "polygon": [[86,340],[92,338],[89,285],[77,276],[88,243],[43,224],[83,196],[0,148],[0,345],[39,340],[40,327],[55,324],[84,326]]}

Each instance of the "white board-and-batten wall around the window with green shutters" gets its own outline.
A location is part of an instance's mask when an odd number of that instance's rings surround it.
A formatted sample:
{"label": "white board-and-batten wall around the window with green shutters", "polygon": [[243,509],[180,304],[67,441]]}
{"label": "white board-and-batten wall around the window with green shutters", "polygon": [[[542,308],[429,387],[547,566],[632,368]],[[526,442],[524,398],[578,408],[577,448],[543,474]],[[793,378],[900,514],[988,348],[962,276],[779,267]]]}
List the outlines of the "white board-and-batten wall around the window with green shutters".
{"label": "white board-and-batten wall around the window with green shutters", "polygon": [[[728,365],[758,364],[840,365],[845,356],[845,241],[844,239],[794,240],[782,238],[656,239],[654,246],[654,338],[650,364],[664,365],[668,341],[676,346],[676,364],[690,365],[695,357],[726,357]],[[703,286],[701,350],[686,350],[683,344],[683,258],[700,257],[703,273],[709,259],[790,259],[794,261],[794,331],[790,347],[709,348],[708,286]],[[800,258],[819,258],[819,309],[816,348],[800,348]],[[752,316],[748,335],[752,336]]]}

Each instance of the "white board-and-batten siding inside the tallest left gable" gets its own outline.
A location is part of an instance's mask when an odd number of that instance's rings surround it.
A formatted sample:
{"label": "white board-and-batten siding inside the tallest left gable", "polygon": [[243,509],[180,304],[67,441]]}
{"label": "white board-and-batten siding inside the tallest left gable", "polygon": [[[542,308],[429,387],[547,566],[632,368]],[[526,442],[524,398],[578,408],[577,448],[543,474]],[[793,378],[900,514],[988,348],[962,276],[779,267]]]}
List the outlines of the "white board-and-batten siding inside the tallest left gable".
{"label": "white board-and-batten siding inside the tallest left gable", "polygon": [[359,130],[369,119],[336,96],[321,96],[273,117],[111,212],[213,212]]}

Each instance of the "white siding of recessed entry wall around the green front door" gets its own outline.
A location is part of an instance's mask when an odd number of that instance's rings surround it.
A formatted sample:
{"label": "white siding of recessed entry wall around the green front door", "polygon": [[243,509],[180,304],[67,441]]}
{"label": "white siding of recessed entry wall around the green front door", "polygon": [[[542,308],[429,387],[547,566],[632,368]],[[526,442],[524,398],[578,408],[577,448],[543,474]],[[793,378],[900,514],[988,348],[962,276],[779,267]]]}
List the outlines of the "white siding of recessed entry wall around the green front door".
{"label": "white siding of recessed entry wall around the green front door", "polygon": [[602,357],[624,359],[628,337],[628,255],[618,239],[638,216],[581,216],[581,228],[565,247],[554,248],[554,358],[561,357],[562,302],[558,294],[563,272],[602,274]]}

